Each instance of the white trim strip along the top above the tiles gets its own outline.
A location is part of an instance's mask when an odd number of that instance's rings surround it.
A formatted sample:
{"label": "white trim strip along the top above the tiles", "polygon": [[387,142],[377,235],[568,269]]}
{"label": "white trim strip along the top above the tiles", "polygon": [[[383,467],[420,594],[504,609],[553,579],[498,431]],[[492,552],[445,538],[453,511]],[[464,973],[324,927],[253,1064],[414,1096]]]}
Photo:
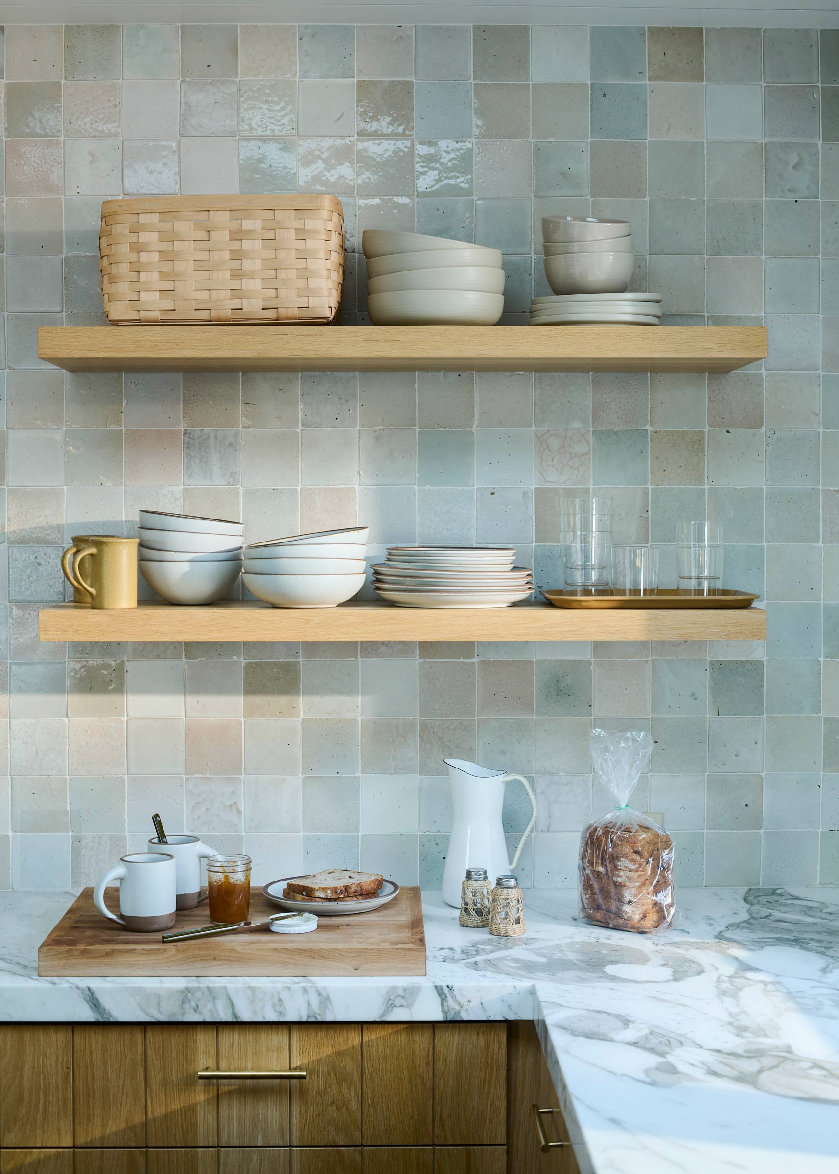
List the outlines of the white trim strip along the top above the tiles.
{"label": "white trim strip along the top above the tiles", "polygon": [[839,0],[785,4],[725,0],[0,0],[0,22],[54,23],[357,23],[357,25],[704,25],[706,27],[839,28]]}

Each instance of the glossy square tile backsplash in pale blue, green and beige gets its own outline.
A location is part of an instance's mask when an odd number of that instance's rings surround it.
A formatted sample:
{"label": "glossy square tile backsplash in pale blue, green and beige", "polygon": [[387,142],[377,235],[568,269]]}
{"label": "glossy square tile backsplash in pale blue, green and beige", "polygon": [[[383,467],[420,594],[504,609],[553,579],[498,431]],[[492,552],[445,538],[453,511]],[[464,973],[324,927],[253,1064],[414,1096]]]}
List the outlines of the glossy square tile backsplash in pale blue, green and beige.
{"label": "glossy square tile backsplash in pale blue, green and beige", "polygon": [[[572,884],[605,805],[592,721],[651,728],[635,803],[664,812],[679,883],[839,882],[839,33],[11,26],[5,79],[0,886],[89,884],[153,811],[248,851],[260,883],[343,865],[435,885],[447,754],[535,780],[519,876]],[[765,370],[39,362],[38,325],[103,321],[103,198],[295,189],[343,202],[344,323],[367,321],[364,228],[501,248],[503,322],[523,323],[549,292],[542,215],[592,212],[632,221],[631,288],[660,291],[665,322],[765,322]],[[590,486],[624,541],[721,521],[765,647],[36,639],[71,535],[133,533],[140,507],[241,517],[248,541],[357,520],[376,553],[512,542],[550,586],[559,502]]]}

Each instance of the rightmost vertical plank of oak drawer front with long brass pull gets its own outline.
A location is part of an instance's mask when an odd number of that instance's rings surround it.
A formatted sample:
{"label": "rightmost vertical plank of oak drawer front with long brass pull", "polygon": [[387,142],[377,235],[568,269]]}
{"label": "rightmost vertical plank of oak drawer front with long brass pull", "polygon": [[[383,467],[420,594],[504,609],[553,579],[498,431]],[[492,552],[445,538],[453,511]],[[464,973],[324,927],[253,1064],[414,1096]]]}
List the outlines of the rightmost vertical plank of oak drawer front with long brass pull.
{"label": "rightmost vertical plank of oak drawer front with long brass pull", "polygon": [[506,1141],[506,1024],[435,1026],[434,1140],[438,1146]]}

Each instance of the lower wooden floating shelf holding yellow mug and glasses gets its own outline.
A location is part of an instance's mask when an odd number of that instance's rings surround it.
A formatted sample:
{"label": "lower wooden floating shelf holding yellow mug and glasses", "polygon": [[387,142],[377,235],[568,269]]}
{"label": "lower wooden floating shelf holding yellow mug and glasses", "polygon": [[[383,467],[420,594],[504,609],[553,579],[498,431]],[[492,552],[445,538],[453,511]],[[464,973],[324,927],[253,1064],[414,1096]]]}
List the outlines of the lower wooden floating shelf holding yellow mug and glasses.
{"label": "lower wooden floating shelf holding yellow mug and glasses", "polygon": [[39,614],[40,640],[764,640],[763,608],[565,610],[550,603],[437,609],[384,603],[282,608],[141,603],[105,610],[61,603]]}

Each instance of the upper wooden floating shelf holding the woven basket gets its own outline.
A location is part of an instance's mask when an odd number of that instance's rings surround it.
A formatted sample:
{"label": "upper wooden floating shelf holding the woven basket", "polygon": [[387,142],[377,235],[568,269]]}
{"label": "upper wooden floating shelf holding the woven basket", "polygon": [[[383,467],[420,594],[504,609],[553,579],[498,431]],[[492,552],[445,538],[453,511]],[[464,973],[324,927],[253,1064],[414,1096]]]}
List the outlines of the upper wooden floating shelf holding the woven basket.
{"label": "upper wooden floating shelf holding the woven basket", "polygon": [[39,326],[65,371],[734,371],[764,326]]}

